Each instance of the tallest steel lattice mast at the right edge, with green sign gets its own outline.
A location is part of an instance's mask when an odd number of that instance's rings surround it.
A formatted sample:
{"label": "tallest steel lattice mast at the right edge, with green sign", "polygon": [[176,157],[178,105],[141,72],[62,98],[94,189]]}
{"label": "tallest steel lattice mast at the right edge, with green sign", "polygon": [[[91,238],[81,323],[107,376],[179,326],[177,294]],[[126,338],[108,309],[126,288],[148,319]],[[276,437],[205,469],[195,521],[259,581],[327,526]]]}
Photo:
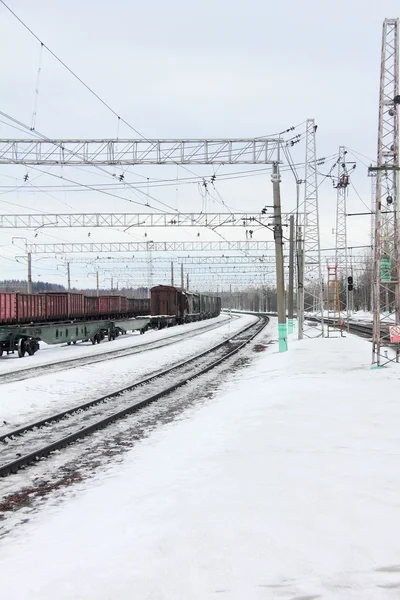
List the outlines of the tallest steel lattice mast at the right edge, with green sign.
{"label": "tallest steel lattice mast at the right edge, with green sign", "polygon": [[[376,171],[374,328],[372,363],[382,366],[390,358],[382,347],[390,344],[389,326],[400,324],[399,297],[399,20],[385,19],[382,31],[379,124]],[[382,204],[384,209],[382,210]],[[396,360],[399,348],[396,345]]]}

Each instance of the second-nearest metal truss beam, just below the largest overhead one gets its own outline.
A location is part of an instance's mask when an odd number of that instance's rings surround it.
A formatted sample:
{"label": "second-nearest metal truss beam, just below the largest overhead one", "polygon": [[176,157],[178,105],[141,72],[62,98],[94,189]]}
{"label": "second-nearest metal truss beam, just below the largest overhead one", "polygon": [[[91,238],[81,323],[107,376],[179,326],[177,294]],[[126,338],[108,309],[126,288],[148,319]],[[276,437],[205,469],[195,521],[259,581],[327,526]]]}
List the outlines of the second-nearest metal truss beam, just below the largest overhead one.
{"label": "second-nearest metal truss beam, just below the largest overhead one", "polygon": [[267,226],[272,217],[261,213],[79,213],[0,215],[2,229],[41,227],[251,227]]}

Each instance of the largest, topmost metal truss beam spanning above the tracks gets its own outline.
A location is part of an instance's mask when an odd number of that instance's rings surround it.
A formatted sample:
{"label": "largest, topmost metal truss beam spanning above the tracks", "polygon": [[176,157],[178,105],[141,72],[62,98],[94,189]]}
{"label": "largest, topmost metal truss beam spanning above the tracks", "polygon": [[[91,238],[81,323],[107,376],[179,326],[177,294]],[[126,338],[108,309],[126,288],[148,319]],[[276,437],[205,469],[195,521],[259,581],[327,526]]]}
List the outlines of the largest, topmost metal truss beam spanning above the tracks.
{"label": "largest, topmost metal truss beam spanning above the tracks", "polygon": [[278,138],[0,140],[0,164],[238,165],[279,162]]}

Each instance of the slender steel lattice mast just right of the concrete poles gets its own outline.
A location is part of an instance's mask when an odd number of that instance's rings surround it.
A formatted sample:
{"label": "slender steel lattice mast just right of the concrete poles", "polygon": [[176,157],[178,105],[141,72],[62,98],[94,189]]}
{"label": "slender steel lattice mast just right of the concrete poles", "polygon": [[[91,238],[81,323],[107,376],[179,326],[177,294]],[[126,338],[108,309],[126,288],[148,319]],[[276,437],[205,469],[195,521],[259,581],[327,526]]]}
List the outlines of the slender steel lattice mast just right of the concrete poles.
{"label": "slender steel lattice mast just right of the concrete poles", "polygon": [[[323,280],[321,269],[321,246],[319,234],[318,211],[318,182],[316,163],[315,132],[317,126],[314,119],[307,119],[306,124],[306,164],[305,164],[305,189],[304,189],[304,288],[305,296],[315,300],[317,312],[320,313],[322,322],[322,336],[324,336],[324,299]],[[310,302],[305,303],[305,310],[312,310]]]}

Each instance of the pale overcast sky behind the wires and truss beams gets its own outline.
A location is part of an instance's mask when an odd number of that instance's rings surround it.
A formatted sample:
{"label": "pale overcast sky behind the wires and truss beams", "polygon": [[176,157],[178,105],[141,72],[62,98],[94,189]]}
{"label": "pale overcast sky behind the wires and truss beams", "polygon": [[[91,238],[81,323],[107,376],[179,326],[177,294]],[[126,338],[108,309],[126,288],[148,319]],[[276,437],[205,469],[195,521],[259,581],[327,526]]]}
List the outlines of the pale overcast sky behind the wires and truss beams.
{"label": "pale overcast sky behind the wires and truss beams", "polygon": [[[366,210],[370,204],[367,166],[376,160],[378,88],[382,22],[399,15],[398,2],[337,0],[335,3],[305,0],[271,2],[226,0],[185,2],[132,2],[128,0],[8,0],[8,5],[79,77],[92,87],[134,128],[149,138],[259,137],[297,126],[314,118],[318,125],[317,154],[330,157],[321,165],[327,173],[340,145],[351,149],[357,161],[349,190],[349,212]],[[137,137],[96,100],[65,68],[42,52],[40,44],[0,5],[2,59],[0,110],[31,125],[39,64],[35,126],[50,138]],[[1,117],[2,121],[7,121]],[[25,138],[0,123],[0,137]],[[360,156],[361,154],[361,156]],[[293,148],[293,159],[304,161],[302,141]],[[254,168],[254,167],[253,167]],[[182,179],[188,173],[177,167],[64,167],[0,168],[2,214],[47,212],[145,212],[132,201],[146,201],[121,184],[113,199],[88,191],[60,191],[45,186],[62,184],[60,176],[80,183],[112,183],[124,172],[125,181]],[[190,167],[210,176],[212,167]],[[214,199],[207,210],[259,211],[271,200],[270,176],[220,180],[242,167],[221,167],[217,172]],[[29,179],[23,185],[23,177]],[[303,172],[299,169],[299,176]],[[35,179],[37,178],[37,179]],[[321,178],[322,179],[322,178]],[[41,186],[41,190],[34,188]],[[11,186],[11,187],[4,187]],[[18,186],[18,190],[15,187]],[[21,187],[22,186],[22,187]],[[43,186],[43,187],[42,187]],[[205,209],[197,183],[149,187],[149,193],[182,212]],[[51,195],[49,195],[51,194]],[[321,245],[332,245],[336,194],[329,180],[320,187]],[[225,207],[222,202],[225,203]],[[162,208],[151,201],[152,206]],[[283,168],[283,210],[295,205],[293,175]],[[17,206],[16,206],[17,205]],[[369,218],[349,219],[350,243],[368,243]],[[87,241],[86,230],[0,230],[0,279],[24,277],[25,269],[13,262],[21,241],[13,235],[40,243]],[[147,233],[147,238],[145,234]],[[90,232],[91,241],[196,239],[197,230],[175,229],[121,233]],[[224,230],[224,235],[228,235]],[[168,238],[167,238],[168,235]],[[245,239],[245,232],[229,233]],[[267,230],[257,239],[271,239]],[[267,236],[267,237],[266,237]],[[221,239],[217,233],[201,232],[201,239]],[[16,248],[16,246],[20,248]],[[11,260],[10,260],[11,259]],[[47,271],[43,264],[46,262]],[[58,261],[59,262],[59,261]],[[57,261],[34,265],[34,278],[65,282],[56,270]],[[41,265],[41,267],[40,267]],[[76,277],[83,271],[76,267]],[[80,285],[83,280],[75,285]]]}

